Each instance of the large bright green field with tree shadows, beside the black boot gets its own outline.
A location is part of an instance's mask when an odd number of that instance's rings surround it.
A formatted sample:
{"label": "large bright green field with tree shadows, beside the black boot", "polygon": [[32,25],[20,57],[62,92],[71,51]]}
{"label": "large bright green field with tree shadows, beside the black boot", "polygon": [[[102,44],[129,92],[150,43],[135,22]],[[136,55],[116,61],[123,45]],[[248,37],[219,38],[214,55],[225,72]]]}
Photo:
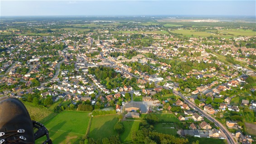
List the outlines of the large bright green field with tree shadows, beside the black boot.
{"label": "large bright green field with tree shadows, beside the black boot", "polygon": [[[63,111],[44,125],[49,130],[53,144],[75,144],[86,133],[89,119],[88,112]],[[41,138],[37,143],[42,144],[43,140]]]}

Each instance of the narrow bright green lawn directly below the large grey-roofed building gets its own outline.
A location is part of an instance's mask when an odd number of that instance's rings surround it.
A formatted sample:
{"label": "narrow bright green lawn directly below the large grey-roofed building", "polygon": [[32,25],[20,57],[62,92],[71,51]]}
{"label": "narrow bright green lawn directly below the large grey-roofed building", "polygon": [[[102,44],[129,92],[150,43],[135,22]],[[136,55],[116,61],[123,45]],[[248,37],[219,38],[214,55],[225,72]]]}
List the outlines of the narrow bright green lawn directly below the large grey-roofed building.
{"label": "narrow bright green lawn directly below the large grey-roofed building", "polygon": [[125,131],[120,134],[121,142],[130,142],[132,132],[139,130],[140,121],[122,121],[122,123],[125,127]]}

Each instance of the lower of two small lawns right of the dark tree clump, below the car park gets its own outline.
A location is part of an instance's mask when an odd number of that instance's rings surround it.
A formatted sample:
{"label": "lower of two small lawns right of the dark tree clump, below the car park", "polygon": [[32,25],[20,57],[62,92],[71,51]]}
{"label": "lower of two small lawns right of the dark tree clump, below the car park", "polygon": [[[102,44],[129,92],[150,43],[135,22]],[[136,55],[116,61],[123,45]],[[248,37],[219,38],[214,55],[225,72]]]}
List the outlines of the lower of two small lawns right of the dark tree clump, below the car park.
{"label": "lower of two small lawns right of the dark tree clump, below the car park", "polygon": [[[174,125],[174,124],[172,124],[172,125]],[[176,135],[177,130],[170,128],[170,127],[172,127],[172,125],[171,124],[167,125],[167,124],[163,124],[163,123],[158,123],[158,124],[154,125],[154,129],[159,133]]]}

